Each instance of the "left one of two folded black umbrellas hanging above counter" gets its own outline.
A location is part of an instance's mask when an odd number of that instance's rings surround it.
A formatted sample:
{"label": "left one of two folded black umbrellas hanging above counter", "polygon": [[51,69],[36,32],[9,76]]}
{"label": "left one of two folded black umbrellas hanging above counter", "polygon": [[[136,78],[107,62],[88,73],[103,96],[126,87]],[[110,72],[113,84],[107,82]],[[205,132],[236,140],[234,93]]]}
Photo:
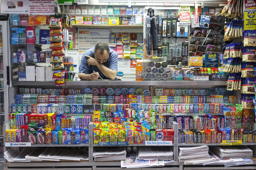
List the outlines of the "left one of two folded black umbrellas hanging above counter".
{"label": "left one of two folded black umbrellas hanging above counter", "polygon": [[146,16],[146,26],[145,26],[145,45],[146,45],[146,51],[147,55],[151,56],[152,54],[152,44],[151,44],[151,17],[149,16],[149,13],[151,11],[151,8],[148,9],[147,16]]}

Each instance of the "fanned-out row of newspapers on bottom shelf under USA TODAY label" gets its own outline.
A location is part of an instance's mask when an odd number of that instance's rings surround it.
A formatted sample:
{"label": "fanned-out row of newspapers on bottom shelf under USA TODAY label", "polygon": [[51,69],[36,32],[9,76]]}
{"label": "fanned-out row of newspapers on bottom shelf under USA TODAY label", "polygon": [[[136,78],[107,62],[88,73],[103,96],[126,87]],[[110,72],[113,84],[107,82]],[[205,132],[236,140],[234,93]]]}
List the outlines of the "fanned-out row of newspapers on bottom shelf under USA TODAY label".
{"label": "fanned-out row of newspapers on bottom shelf under USA TODAY label", "polygon": [[8,162],[30,162],[30,161],[86,161],[88,151],[85,149],[59,149],[47,148],[40,149],[35,147],[10,147],[4,152],[4,158]]}

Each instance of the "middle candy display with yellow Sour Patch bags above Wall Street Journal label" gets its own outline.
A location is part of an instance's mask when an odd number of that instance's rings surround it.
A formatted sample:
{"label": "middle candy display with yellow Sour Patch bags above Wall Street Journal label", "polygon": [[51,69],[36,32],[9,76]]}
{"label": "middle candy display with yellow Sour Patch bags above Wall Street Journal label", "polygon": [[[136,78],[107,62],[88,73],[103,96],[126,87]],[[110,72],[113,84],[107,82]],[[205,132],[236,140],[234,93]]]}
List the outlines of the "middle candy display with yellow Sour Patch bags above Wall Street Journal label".
{"label": "middle candy display with yellow Sour Patch bags above Wall Street Journal label", "polygon": [[174,141],[171,115],[156,115],[154,111],[126,108],[125,112],[93,113],[93,143],[127,141],[143,144],[145,141]]}

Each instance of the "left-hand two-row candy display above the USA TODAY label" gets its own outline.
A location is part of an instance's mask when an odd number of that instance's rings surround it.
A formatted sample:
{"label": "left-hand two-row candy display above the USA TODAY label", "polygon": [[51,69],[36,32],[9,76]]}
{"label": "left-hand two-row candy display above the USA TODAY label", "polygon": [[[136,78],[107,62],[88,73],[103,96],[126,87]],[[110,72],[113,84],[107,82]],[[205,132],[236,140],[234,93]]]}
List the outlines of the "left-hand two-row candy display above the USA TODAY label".
{"label": "left-hand two-row candy display above the USA TODAY label", "polygon": [[31,144],[88,143],[90,116],[10,113],[6,142]]}

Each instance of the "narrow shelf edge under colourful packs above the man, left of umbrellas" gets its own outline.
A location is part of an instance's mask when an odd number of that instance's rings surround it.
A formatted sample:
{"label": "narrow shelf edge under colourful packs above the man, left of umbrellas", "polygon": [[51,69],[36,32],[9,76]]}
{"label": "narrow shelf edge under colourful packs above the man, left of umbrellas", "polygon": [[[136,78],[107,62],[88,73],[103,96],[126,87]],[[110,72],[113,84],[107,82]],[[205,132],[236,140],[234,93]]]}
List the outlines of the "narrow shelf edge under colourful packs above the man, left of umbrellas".
{"label": "narrow shelf edge under colourful packs above the man, left of umbrellas", "polygon": [[143,25],[93,25],[93,24],[72,24],[77,28],[143,28]]}

